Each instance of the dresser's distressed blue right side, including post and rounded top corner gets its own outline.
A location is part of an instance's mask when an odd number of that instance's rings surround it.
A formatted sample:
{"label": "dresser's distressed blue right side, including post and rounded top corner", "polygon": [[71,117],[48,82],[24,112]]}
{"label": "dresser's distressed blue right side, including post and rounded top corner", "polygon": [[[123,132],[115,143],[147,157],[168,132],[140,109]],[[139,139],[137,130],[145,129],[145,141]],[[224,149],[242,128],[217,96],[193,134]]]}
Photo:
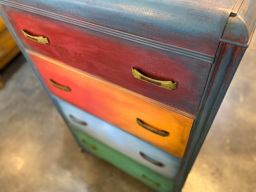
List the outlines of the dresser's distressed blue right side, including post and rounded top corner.
{"label": "dresser's distressed blue right side, including post and rounded top corner", "polygon": [[[236,69],[243,58],[246,48],[251,42],[256,25],[256,1],[244,0],[241,7],[236,7],[236,14],[231,14],[223,32],[223,38],[216,53],[206,90],[199,112],[192,126],[189,145],[181,161],[174,192],[180,192],[212,122],[220,108],[228,86],[235,75]],[[237,23],[235,23],[237,21]],[[234,26],[236,25],[236,27]],[[246,28],[247,30],[244,30]],[[243,31],[244,33],[241,33]],[[230,35],[228,35],[228,32]],[[224,38],[225,36],[225,38]],[[241,40],[245,40],[244,42]],[[225,43],[224,43],[225,42]]]}

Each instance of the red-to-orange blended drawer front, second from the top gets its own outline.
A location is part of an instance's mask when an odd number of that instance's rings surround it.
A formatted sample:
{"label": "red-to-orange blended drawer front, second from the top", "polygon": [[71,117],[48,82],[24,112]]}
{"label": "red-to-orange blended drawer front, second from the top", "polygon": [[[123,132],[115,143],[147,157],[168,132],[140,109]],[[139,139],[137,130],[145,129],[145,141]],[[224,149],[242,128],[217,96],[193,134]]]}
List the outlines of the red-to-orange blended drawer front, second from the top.
{"label": "red-to-orange blended drawer front, second from the top", "polygon": [[[48,58],[29,55],[53,95],[175,156],[183,156],[193,119],[92,79]],[[145,128],[141,126],[141,121]],[[163,130],[168,136],[161,136],[152,130],[159,134]]]}

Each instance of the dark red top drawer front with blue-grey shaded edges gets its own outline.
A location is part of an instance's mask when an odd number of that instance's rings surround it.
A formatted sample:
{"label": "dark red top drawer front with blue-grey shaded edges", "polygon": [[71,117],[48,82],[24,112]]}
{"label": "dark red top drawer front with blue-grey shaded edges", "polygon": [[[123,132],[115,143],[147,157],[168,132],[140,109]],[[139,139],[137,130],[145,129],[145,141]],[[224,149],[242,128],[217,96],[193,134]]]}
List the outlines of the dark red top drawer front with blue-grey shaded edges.
{"label": "dark red top drawer front with blue-grey shaded edges", "polygon": [[[3,7],[27,49],[196,114],[211,64],[42,15]],[[33,36],[47,37],[49,43],[40,44],[26,38],[22,29]],[[176,81],[177,87],[167,90],[137,79],[132,74],[132,67],[151,79]]]}

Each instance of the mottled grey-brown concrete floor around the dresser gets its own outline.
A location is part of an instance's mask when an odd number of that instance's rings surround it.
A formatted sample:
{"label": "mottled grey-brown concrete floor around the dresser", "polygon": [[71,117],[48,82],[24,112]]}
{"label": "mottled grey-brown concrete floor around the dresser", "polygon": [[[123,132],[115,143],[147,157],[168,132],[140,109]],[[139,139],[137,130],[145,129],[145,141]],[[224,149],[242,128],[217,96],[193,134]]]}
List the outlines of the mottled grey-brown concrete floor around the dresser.
{"label": "mottled grey-brown concrete floor around the dresser", "polygon": [[[182,192],[256,192],[256,36]],[[19,55],[2,72],[0,192],[152,192],[77,144]]]}

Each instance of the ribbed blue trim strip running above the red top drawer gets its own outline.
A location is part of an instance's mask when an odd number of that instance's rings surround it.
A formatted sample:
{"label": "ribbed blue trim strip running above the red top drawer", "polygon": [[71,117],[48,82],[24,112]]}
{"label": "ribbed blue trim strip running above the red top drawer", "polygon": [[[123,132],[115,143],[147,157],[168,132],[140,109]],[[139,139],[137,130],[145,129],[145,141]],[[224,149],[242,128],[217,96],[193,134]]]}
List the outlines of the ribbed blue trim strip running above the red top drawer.
{"label": "ribbed blue trim strip running above the red top drawer", "polygon": [[182,56],[186,56],[186,57],[189,57],[189,58],[193,58],[193,59],[196,59],[196,60],[205,61],[207,63],[212,63],[214,58],[215,58],[215,55],[210,55],[210,54],[206,54],[206,53],[203,53],[203,52],[198,52],[198,51],[195,51],[195,50],[186,49],[186,48],[183,48],[183,47],[178,47],[178,46],[174,46],[174,45],[170,45],[170,44],[161,43],[161,42],[158,42],[158,41],[155,41],[155,40],[152,40],[152,39],[148,39],[148,38],[145,38],[145,37],[129,34],[129,33],[126,33],[126,32],[118,31],[118,30],[115,30],[115,29],[103,27],[103,26],[100,26],[100,25],[88,23],[88,22],[73,19],[73,18],[68,18],[68,17],[62,16],[62,15],[54,14],[54,13],[51,13],[51,12],[46,12],[44,10],[29,7],[29,6],[26,6],[26,5],[22,5],[22,4],[18,4],[18,3],[14,3],[14,2],[9,3],[5,0],[0,0],[0,4],[7,5],[7,6],[10,6],[10,7],[14,7],[16,9],[24,10],[24,11],[27,11],[27,12],[32,12],[32,13],[40,14],[40,15],[43,15],[43,16],[47,16],[47,17],[50,17],[52,19],[64,21],[64,22],[67,22],[67,23],[70,23],[70,24],[74,24],[74,25],[83,27],[83,28],[99,31],[101,33],[105,33],[105,34],[108,34],[108,35],[123,38],[125,40],[132,41],[132,42],[139,43],[139,44],[143,44],[143,45],[146,45],[146,46],[149,46],[149,47],[157,48],[157,49],[164,50],[164,51],[167,51],[167,52],[172,52],[172,53],[179,54],[179,55],[182,55]]}

